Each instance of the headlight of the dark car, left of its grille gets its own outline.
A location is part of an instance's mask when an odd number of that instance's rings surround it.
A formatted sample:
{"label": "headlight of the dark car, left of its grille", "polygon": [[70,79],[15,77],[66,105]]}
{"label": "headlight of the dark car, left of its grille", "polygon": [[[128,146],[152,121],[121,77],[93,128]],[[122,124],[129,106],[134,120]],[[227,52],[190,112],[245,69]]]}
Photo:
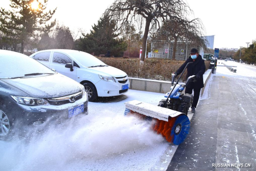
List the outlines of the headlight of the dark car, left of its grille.
{"label": "headlight of the dark car, left of its grille", "polygon": [[41,98],[32,98],[32,97],[20,97],[20,96],[11,96],[12,99],[17,101],[20,104],[26,104],[31,106],[39,106],[49,104],[47,100]]}

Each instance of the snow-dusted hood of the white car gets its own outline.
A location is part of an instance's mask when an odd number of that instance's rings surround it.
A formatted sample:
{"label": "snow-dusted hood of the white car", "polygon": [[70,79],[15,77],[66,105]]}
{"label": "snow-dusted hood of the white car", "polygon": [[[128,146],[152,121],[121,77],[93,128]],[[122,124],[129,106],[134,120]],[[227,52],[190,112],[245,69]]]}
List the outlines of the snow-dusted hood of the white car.
{"label": "snow-dusted hood of the white car", "polygon": [[111,77],[124,77],[127,74],[123,72],[122,70],[119,70],[115,67],[93,67],[89,68],[90,70],[93,70],[94,72],[97,72],[98,74],[102,74],[104,76],[111,76]]}

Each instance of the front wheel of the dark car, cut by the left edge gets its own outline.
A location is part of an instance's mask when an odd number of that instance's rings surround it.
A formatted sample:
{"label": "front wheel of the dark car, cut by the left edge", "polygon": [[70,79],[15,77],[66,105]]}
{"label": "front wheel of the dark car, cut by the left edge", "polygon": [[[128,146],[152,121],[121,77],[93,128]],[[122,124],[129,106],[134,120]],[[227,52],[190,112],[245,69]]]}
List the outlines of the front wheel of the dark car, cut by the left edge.
{"label": "front wheel of the dark car, cut by the left edge", "polygon": [[0,109],[0,138],[7,137],[12,132],[12,117]]}

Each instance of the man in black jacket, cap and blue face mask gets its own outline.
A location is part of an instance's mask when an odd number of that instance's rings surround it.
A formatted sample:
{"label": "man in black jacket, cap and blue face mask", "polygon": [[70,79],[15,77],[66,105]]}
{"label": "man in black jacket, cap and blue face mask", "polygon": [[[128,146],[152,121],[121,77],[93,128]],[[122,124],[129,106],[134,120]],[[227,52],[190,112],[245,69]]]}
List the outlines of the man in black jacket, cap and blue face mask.
{"label": "man in black jacket, cap and blue face mask", "polygon": [[198,54],[198,49],[193,48],[190,50],[189,58],[184,62],[184,64],[182,64],[177,72],[175,72],[175,75],[179,75],[186,67],[186,64],[189,62],[193,62],[193,64],[190,64],[187,67],[186,79],[189,78],[189,76],[191,75],[196,75],[196,81],[190,82],[189,85],[186,86],[185,93],[192,94],[192,90],[194,90],[194,99],[191,105],[191,112],[195,113],[200,90],[204,87],[203,75],[205,72],[204,60],[202,59],[202,56]]}

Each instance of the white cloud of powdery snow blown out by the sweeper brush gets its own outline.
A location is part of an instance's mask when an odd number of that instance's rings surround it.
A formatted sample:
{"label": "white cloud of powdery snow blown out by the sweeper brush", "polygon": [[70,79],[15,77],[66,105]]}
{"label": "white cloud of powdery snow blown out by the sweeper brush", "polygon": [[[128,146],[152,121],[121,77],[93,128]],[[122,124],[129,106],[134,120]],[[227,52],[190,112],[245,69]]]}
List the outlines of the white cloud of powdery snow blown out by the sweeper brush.
{"label": "white cloud of powdery snow blown out by the sweeper brush", "polygon": [[102,113],[106,115],[50,125],[42,133],[29,133],[31,138],[0,141],[1,170],[73,170],[67,165],[146,151],[165,142],[148,122],[109,110]]}

